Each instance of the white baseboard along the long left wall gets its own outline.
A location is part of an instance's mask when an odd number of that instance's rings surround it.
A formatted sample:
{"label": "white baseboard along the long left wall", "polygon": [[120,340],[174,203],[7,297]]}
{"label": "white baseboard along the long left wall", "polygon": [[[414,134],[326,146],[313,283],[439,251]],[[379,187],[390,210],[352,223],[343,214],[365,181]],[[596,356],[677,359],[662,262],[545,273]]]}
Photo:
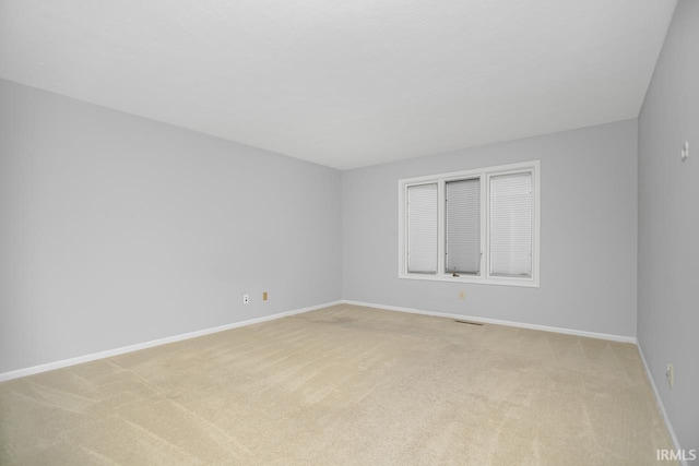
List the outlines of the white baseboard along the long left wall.
{"label": "white baseboard along the long left wall", "polygon": [[279,312],[276,314],[264,315],[262,318],[249,319],[247,321],[234,322],[230,324],[220,325],[211,328],[204,328],[196,332],[183,333],[180,335],[167,336],[165,338],[153,339],[151,342],[137,343],[135,345],[122,346],[120,348],[107,349],[105,351],[92,353],[90,355],[78,356],[75,358],[63,359],[60,361],[48,362],[45,365],[33,366],[24,369],[17,369],[10,372],[3,372],[3,373],[0,373],[0,382],[17,379],[21,377],[32,375],[39,372],[51,371],[54,369],[67,368],[69,366],[80,365],[82,362],[90,362],[97,359],[109,358],[111,356],[123,355],[125,353],[138,351],[139,349],[152,348],[153,346],[165,345],[167,343],[175,343],[175,342],[181,342],[182,339],[196,338],[198,336],[209,335],[211,333],[224,332],[230,328],[237,328],[241,326],[258,324],[261,322],[273,321],[275,319],[282,319],[289,315],[315,311],[317,309],[322,309],[322,308],[327,308],[327,307],[335,306],[340,303],[342,303],[342,301],[325,302],[323,304],[311,306],[309,308],[294,309],[291,311]]}

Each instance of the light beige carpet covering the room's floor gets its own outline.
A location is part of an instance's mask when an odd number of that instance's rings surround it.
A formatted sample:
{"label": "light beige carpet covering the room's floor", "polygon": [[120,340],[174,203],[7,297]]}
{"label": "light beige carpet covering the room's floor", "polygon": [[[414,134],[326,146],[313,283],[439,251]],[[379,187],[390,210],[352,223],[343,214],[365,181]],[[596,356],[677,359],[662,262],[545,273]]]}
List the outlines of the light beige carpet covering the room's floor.
{"label": "light beige carpet covering the room's floor", "polygon": [[633,345],[353,306],[0,384],[2,464],[645,465],[671,447]]}

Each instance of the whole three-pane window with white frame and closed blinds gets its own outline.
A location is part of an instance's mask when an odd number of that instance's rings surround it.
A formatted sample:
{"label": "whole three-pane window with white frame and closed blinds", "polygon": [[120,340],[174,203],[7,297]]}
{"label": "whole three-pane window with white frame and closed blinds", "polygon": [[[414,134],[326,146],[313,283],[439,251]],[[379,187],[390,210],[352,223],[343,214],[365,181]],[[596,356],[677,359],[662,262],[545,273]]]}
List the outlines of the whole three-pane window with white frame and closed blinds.
{"label": "whole three-pane window with white frame and closed blinds", "polygon": [[538,286],[538,160],[399,181],[399,277]]}

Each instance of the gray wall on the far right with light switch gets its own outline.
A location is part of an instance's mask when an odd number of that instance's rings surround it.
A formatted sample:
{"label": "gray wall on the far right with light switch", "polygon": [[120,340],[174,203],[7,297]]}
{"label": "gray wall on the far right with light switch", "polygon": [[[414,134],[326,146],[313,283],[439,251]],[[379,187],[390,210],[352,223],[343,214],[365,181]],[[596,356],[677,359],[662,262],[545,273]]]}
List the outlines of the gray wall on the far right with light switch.
{"label": "gray wall on the far right with light switch", "polygon": [[[689,141],[690,154],[679,151]],[[685,449],[699,449],[699,1],[680,0],[639,116],[638,338]],[[675,368],[675,387],[665,368]]]}

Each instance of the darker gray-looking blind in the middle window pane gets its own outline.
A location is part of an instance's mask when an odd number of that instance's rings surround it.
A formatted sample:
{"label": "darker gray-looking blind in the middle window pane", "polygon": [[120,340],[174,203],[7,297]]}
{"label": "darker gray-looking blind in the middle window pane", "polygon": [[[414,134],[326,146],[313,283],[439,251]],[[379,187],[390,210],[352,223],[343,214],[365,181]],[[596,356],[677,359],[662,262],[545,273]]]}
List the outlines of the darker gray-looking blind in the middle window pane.
{"label": "darker gray-looking blind in the middle window pane", "polygon": [[446,183],[445,272],[481,273],[481,180]]}

